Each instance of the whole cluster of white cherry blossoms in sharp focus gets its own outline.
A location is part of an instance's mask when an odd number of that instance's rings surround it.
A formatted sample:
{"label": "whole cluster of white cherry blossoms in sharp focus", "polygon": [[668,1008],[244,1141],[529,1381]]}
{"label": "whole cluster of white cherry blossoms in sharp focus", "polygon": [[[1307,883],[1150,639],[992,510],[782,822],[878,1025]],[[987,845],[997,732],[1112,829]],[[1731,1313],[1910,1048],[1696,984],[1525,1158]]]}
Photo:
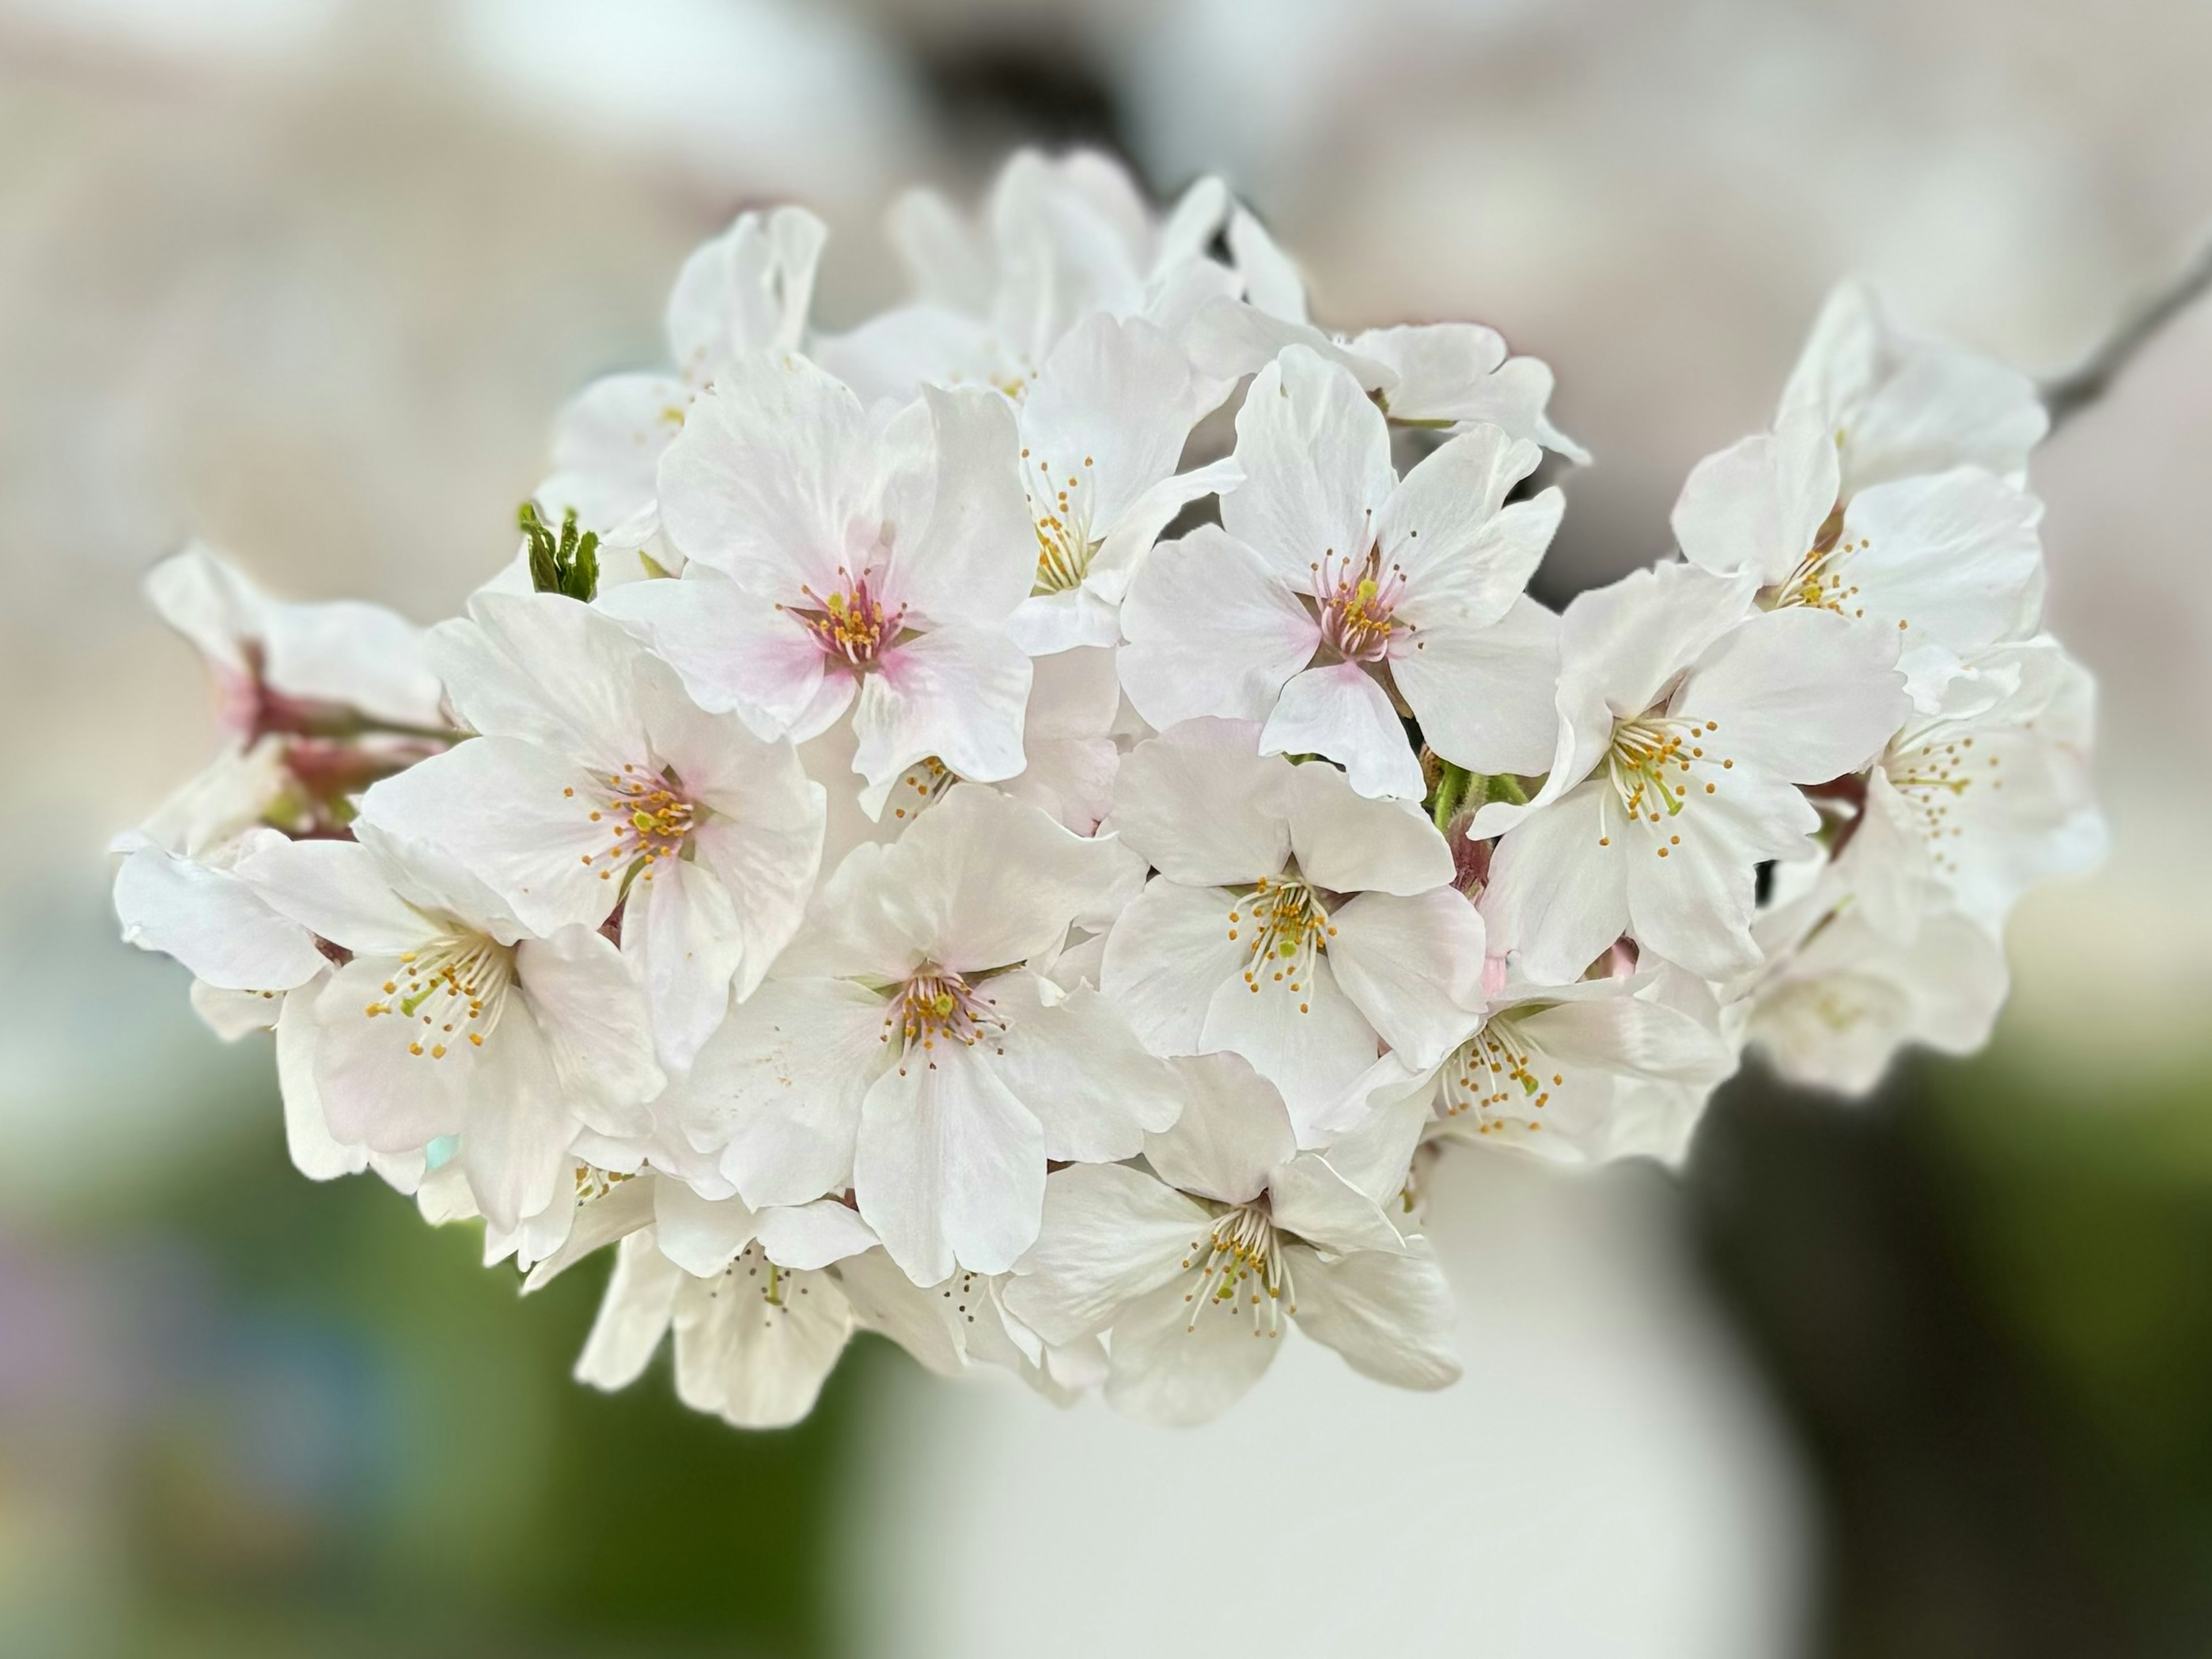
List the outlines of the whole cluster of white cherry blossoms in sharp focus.
{"label": "whole cluster of white cherry blossoms in sharp focus", "polygon": [[531,1287],[611,1245],[588,1383],[668,1336],[779,1425],[872,1329],[1194,1422],[1296,1329],[1442,1387],[1438,1157],[1679,1161],[1747,1046],[1973,1048],[2099,852],[2044,409],[1856,288],[1555,613],[1551,372],[1314,325],[1221,184],[911,195],[843,334],[823,239],[692,254],[465,615],[148,580],[228,737],[117,843],[124,936],[274,1031],[305,1175]]}

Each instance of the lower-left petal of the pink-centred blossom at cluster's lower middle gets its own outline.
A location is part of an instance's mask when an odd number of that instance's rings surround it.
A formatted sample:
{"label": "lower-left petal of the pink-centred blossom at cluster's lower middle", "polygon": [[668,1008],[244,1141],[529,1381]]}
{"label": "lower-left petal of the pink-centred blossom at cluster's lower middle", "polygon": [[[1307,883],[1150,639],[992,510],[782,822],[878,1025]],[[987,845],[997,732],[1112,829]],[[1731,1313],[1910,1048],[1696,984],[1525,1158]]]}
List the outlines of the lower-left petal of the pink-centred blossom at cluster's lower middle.
{"label": "lower-left petal of the pink-centred blossom at cluster's lower middle", "polygon": [[768,980],[692,1062],[679,1110],[752,1208],[812,1203],[852,1175],[860,1097],[885,1066],[885,1002],[843,980]]}

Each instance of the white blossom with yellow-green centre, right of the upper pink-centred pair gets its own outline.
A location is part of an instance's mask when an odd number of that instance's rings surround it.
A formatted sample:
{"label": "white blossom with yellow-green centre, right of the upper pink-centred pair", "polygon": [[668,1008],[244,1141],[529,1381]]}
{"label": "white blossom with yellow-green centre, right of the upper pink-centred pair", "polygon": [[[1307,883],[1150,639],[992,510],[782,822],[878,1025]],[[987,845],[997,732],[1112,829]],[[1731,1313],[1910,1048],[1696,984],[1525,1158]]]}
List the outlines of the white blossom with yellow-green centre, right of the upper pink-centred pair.
{"label": "white blossom with yellow-green centre, right of the upper pink-centred pair", "polygon": [[1710,980],[1759,962],[1756,867],[1807,858],[1798,785],[1863,770],[1905,721],[1896,644],[1827,611],[1752,611],[1752,577],[1661,564],[1559,628],[1559,748],[1482,894],[1491,949],[1571,984],[1624,933]]}

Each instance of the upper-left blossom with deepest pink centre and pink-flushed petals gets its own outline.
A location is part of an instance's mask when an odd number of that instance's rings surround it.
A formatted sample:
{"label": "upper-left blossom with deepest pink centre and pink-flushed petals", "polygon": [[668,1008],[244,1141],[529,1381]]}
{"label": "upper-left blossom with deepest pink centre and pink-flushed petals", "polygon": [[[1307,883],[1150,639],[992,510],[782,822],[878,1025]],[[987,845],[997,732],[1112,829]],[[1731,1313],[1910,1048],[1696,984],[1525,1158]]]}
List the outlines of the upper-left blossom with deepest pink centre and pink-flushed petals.
{"label": "upper-left blossom with deepest pink centre and pink-flushed petals", "polygon": [[1037,568],[1004,398],[927,389],[878,416],[805,358],[732,367],[661,462],[684,577],[602,595],[763,739],[854,708],[872,807],[918,761],[1022,770],[1031,668],[1004,628]]}

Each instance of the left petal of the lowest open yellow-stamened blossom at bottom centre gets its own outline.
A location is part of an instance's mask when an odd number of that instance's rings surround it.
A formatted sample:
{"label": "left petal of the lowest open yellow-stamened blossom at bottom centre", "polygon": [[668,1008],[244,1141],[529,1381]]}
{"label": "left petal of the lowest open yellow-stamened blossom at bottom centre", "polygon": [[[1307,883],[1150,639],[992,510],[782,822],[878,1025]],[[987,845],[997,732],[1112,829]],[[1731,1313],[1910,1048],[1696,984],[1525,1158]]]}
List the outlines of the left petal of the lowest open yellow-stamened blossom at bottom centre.
{"label": "left petal of the lowest open yellow-stamened blossom at bottom centre", "polygon": [[1006,1307],[1046,1343],[1075,1343],[1181,1272],[1208,1212],[1124,1164],[1075,1164],[1044,1181],[1044,1225],[1006,1283]]}

